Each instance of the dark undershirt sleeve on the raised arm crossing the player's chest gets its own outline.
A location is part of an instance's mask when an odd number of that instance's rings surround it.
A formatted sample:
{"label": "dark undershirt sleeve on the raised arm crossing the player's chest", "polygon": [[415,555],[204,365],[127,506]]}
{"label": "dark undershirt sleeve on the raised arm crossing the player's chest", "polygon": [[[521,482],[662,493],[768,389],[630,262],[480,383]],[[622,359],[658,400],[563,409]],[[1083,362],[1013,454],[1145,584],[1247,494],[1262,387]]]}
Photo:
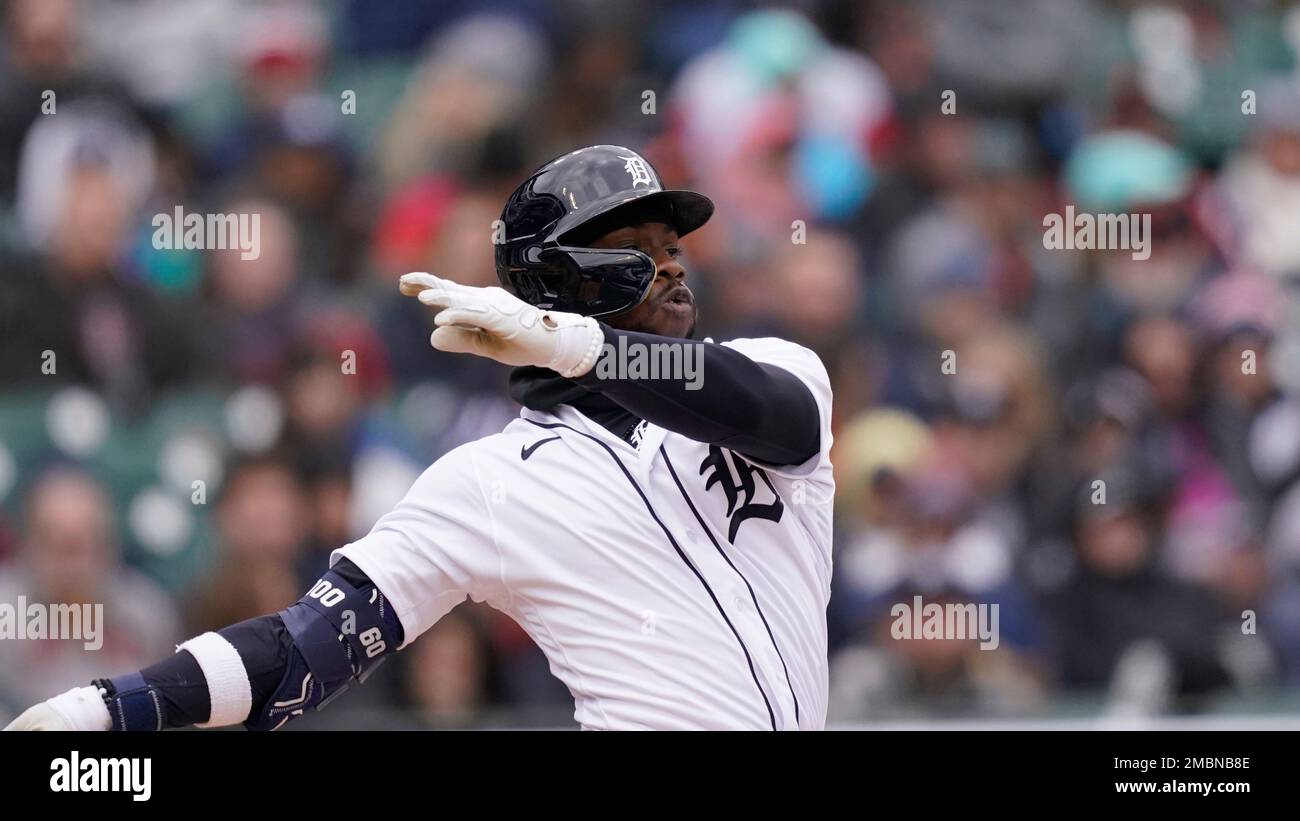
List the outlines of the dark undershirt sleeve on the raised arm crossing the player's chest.
{"label": "dark undershirt sleeve on the raised arm crossing the player's chest", "polygon": [[[616,356],[621,347],[641,344],[699,346],[697,390],[686,378],[630,378],[616,368],[597,366],[576,382],[608,396],[644,420],[681,434],[736,451],[774,466],[798,465],[820,449],[816,400],[798,377],[767,362],[755,362],[720,344],[672,339],[655,334],[601,326],[607,347],[601,357]],[[655,348],[645,348],[653,351]]]}

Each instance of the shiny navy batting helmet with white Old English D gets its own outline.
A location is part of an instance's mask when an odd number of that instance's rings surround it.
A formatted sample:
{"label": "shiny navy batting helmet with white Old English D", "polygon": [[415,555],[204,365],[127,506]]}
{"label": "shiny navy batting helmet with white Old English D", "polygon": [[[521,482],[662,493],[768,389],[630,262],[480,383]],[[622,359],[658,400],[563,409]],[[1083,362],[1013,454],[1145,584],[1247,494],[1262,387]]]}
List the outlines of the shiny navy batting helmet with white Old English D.
{"label": "shiny navy batting helmet with white Old English D", "polygon": [[702,194],[666,191],[654,168],[630,148],[580,148],[540,168],[506,200],[497,277],[538,308],[611,317],[641,304],[655,264],[640,251],[584,243],[651,221],[682,236],[712,213],[712,201]]}

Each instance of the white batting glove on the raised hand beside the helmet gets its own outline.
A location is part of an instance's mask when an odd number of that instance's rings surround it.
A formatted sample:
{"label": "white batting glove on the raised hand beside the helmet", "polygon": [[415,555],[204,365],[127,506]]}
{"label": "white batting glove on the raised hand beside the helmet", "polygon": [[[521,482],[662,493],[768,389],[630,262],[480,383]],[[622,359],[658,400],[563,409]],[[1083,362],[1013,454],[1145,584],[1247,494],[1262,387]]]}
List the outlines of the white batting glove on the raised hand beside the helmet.
{"label": "white batting glove on the raised hand beside the helmet", "polygon": [[403,274],[400,282],[407,296],[442,309],[429,338],[439,351],[540,365],[573,379],[592,370],[604,344],[592,317],[541,310],[504,288],[458,284],[424,272]]}

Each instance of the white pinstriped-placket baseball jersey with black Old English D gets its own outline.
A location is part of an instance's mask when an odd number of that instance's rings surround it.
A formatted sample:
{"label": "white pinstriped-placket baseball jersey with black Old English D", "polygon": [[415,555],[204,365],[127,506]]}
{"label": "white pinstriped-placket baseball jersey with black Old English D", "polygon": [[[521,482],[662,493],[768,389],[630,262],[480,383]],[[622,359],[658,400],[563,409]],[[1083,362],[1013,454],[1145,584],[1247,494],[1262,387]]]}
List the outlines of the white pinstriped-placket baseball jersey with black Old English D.
{"label": "white pinstriped-placket baseball jersey with black Old English D", "polygon": [[816,456],[759,468],[650,423],[633,446],[569,405],[524,409],[434,462],[332,562],[370,577],[406,643],[467,596],[507,613],[584,729],[822,729],[829,379],[781,339],[723,344],[807,385]]}

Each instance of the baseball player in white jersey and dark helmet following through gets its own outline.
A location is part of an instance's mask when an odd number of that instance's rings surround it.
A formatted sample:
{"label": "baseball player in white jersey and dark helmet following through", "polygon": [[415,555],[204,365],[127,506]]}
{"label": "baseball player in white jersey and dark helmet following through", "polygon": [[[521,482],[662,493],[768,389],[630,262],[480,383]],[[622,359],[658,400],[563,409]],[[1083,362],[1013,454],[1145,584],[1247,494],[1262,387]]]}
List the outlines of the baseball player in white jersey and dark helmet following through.
{"label": "baseball player in white jersey and dark helmet following through", "polygon": [[[467,598],[528,631],[585,729],[823,727],[831,385],[783,339],[692,339],[679,240],[712,210],[619,145],[547,162],[502,213],[503,287],[400,281],[438,310],[434,348],[514,366],[519,418],[434,462],[291,607],[9,729],[274,730]],[[646,352],[697,373],[614,361]]]}

